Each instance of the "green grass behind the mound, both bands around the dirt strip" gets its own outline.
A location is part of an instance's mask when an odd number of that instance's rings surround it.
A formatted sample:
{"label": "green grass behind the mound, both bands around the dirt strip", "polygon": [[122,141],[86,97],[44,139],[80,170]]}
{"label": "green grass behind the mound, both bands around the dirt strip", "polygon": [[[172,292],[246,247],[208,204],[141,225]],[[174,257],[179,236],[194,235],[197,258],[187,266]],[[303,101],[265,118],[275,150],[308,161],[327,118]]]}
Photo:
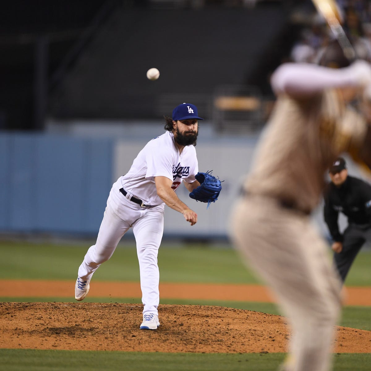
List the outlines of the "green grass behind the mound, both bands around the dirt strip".
{"label": "green grass behind the mound, both bands around the dirt strip", "polygon": [[[52,245],[30,242],[0,242],[0,279],[74,280],[89,243]],[[161,282],[259,283],[241,262],[236,251],[205,244],[172,245],[164,243],[159,252]],[[371,286],[371,250],[361,250],[347,285]],[[120,244],[108,262],[96,271],[94,280],[138,281],[139,266],[135,246]],[[17,302],[70,302],[69,298],[0,298]],[[86,298],[87,302],[140,303],[140,298]],[[218,305],[257,312],[280,314],[275,304],[241,301],[165,300],[162,304]],[[340,324],[371,330],[370,307],[345,307]]]}

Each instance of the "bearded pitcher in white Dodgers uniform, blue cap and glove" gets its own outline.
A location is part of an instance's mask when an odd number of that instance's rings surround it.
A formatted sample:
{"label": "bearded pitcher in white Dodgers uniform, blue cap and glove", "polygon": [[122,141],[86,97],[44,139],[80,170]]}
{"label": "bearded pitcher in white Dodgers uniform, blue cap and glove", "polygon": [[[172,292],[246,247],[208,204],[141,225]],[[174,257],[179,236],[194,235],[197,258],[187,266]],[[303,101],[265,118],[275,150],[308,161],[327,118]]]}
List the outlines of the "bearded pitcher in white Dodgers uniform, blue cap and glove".
{"label": "bearded pitcher in white Dodgers uniform, blue cap and glove", "polygon": [[160,325],[158,249],[164,230],[165,204],[183,214],[191,226],[197,214],[183,203],[175,191],[184,182],[191,198],[215,202],[221,183],[210,173],[198,172],[196,141],[197,107],[183,103],[166,117],[165,134],[152,139],[139,152],[127,174],[113,184],[95,245],[86,253],[78,270],[75,299],[88,295],[90,280],[98,267],[114,253],[129,228],[137,243],[143,302],[141,329],[155,330]]}

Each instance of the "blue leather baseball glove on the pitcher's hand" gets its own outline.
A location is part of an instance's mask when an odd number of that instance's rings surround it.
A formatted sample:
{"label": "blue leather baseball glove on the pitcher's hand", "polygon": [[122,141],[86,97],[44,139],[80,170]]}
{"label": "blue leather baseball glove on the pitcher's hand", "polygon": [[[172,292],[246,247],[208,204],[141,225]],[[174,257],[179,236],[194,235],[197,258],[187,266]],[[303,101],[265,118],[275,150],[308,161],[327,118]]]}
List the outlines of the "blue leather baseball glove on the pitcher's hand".
{"label": "blue leather baseball glove on the pitcher's hand", "polygon": [[196,201],[207,202],[207,208],[209,208],[211,202],[218,199],[221,191],[221,181],[211,175],[211,171],[196,174],[195,178],[200,185],[189,194],[189,197]]}

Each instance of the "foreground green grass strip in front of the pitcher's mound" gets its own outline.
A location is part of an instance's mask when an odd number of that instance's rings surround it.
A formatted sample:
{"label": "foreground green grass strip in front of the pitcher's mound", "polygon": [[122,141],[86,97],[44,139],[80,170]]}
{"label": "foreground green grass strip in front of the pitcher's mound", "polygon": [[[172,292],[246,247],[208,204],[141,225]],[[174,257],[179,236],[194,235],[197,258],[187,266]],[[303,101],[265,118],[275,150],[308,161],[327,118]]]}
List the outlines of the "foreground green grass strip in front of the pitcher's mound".
{"label": "foreground green grass strip in front of the pitcher's mound", "polygon": [[[0,349],[1,371],[272,371],[285,355]],[[334,371],[368,371],[371,354],[337,354]]]}

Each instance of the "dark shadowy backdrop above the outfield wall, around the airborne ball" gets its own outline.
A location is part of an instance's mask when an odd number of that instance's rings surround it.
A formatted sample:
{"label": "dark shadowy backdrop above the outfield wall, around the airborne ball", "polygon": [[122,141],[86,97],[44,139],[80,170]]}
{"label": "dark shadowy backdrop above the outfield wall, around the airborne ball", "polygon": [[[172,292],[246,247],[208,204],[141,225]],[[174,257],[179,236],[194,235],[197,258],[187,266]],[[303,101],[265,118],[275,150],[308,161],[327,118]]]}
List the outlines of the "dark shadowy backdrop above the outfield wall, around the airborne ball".
{"label": "dark shadowy backdrop above the outfield wall, around the airborne ball", "polygon": [[[229,85],[269,96],[269,74],[298,37],[293,4],[302,2],[196,3],[2,3],[0,129],[42,131],[48,118],[158,118],[191,100],[208,118],[210,99]],[[146,78],[151,67],[160,70],[155,82]]]}

